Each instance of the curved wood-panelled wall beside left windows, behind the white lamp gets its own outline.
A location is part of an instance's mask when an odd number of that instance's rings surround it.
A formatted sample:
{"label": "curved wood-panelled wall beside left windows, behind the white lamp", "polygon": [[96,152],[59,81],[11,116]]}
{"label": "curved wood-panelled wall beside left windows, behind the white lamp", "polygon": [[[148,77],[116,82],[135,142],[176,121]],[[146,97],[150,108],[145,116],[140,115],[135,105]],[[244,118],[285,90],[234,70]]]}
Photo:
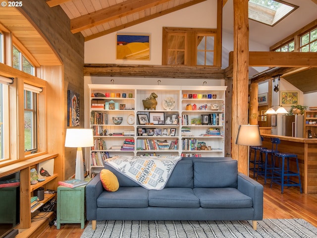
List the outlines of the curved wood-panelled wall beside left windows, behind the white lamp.
{"label": "curved wood-panelled wall beside left windows, behind the white lamp", "polygon": [[84,37],[70,32],[70,20],[60,6],[46,0],[23,1],[21,12],[30,20],[61,59],[61,66],[42,66],[38,77],[48,81],[48,151],[58,153],[55,171],[59,180],[75,172],[76,148],[65,148],[67,90],[80,95],[80,127],[84,126]]}

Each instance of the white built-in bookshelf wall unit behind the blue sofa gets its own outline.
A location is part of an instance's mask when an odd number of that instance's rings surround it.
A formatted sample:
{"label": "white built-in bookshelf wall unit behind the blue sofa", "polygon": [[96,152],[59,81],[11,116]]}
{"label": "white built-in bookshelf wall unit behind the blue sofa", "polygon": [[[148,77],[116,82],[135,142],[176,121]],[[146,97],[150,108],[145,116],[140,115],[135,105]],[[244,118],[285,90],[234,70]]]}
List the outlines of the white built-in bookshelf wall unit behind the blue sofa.
{"label": "white built-in bookshelf wall unit behind the blue sofa", "polygon": [[[103,132],[106,131],[107,135],[104,134],[94,134],[94,138],[99,140],[102,144],[106,145],[104,148],[90,148],[89,152],[89,165],[88,170],[90,176],[93,172],[99,173],[101,169],[104,168],[103,162],[98,165],[93,165],[92,155],[102,156],[106,153],[107,156],[112,157],[115,155],[123,156],[136,156],[136,155],[182,155],[182,154],[201,154],[204,157],[223,157],[224,156],[224,108],[225,108],[225,91],[226,86],[166,86],[166,85],[106,85],[106,84],[88,84],[89,87],[89,96],[90,96],[90,110],[89,115],[90,127],[94,131]],[[145,110],[142,100],[148,98],[152,92],[157,94],[157,107],[156,110]],[[94,93],[101,93],[105,97],[94,97]],[[110,97],[106,97],[106,94]],[[116,97],[116,95],[119,97]],[[125,98],[122,97],[122,94],[125,94]],[[192,98],[189,98],[189,95],[192,95]],[[186,96],[185,96],[186,95]],[[196,95],[196,96],[194,96]],[[204,97],[203,97],[204,95]],[[212,98],[213,95],[213,98]],[[129,97],[130,96],[130,97]],[[208,97],[209,96],[209,97]],[[175,105],[172,109],[164,109],[163,103],[167,98],[173,98]],[[109,103],[113,101],[117,103],[114,109],[109,109]],[[100,104],[99,108],[93,108],[92,104]],[[197,110],[187,110],[186,106],[188,104],[194,105],[197,107]],[[211,110],[211,104],[218,104],[218,110]],[[105,106],[106,105],[106,106]],[[121,105],[121,106],[120,106]],[[202,108],[201,106],[207,105],[207,108]],[[125,107],[125,109],[123,109]],[[120,110],[121,108],[121,110]],[[166,105],[165,105],[166,108]],[[96,120],[93,115],[96,113],[107,117],[104,122],[96,123]],[[147,115],[149,122],[151,118],[161,117],[160,120],[163,120],[161,123],[158,122],[154,125],[149,124],[140,124],[138,121],[138,115]],[[192,119],[200,119],[201,115],[210,115],[215,114],[218,116],[218,124],[204,124],[204,125],[194,125],[191,124]],[[128,117],[132,115],[134,117],[134,122],[128,121]],[[166,115],[178,115],[178,123],[167,123]],[[121,124],[114,124],[112,117],[122,117]],[[182,123],[184,118],[188,118],[188,124]],[[182,135],[182,129],[185,127],[190,128],[193,132],[190,136]],[[219,135],[213,136],[202,136],[206,134],[206,131],[210,128],[216,128],[220,131]],[[144,136],[139,133],[139,131],[144,130],[144,132],[149,131],[151,128],[160,130],[161,132],[166,129],[171,131],[175,129],[175,135],[164,134],[164,135],[147,135]],[[121,135],[114,136],[113,134],[123,132],[123,131],[133,131],[132,135]],[[109,136],[109,134],[112,136]],[[134,140],[135,147],[133,150],[120,150],[120,149],[111,149],[113,145],[122,145],[125,139]],[[196,139],[199,142],[206,142],[207,146],[210,146],[212,150],[187,150],[182,148],[182,142],[186,139]],[[154,147],[151,149],[143,148],[138,145],[141,140],[147,140],[146,142],[158,142],[158,140],[166,140],[170,145],[172,141],[177,140],[177,147],[173,149],[157,149]],[[137,148],[138,146],[138,148]],[[158,146],[157,146],[158,147]]]}

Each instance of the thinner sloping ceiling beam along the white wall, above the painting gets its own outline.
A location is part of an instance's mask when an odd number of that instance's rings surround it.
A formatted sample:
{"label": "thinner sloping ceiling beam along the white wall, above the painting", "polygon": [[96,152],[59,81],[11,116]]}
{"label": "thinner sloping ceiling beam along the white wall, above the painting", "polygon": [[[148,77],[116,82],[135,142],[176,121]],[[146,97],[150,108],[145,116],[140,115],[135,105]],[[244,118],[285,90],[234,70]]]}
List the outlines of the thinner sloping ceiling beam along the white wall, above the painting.
{"label": "thinner sloping ceiling beam along the white wall, above the painting", "polygon": [[108,29],[106,31],[102,31],[102,32],[99,32],[99,33],[96,33],[96,34],[93,34],[93,35],[90,35],[90,36],[86,36],[85,37],[85,41],[90,41],[90,40],[96,39],[98,37],[110,34],[112,32],[120,31],[120,30],[125,29],[127,27],[134,26],[136,24],[140,24],[142,22],[146,22],[146,21],[152,20],[152,19],[157,18],[159,16],[162,16],[162,15],[165,15],[165,14],[168,14],[168,13],[183,9],[185,7],[188,7],[188,6],[195,5],[195,4],[203,2],[203,1],[206,1],[206,0],[192,0],[192,1],[189,1],[189,2],[185,2],[185,3],[177,5],[175,7],[171,7],[171,8],[168,8],[166,10],[157,12],[155,14],[151,14],[149,16],[139,18],[137,20],[128,22],[126,24],[122,24],[122,25],[119,25],[119,26],[116,26],[116,27],[112,27],[112,28],[110,28],[110,29]]}

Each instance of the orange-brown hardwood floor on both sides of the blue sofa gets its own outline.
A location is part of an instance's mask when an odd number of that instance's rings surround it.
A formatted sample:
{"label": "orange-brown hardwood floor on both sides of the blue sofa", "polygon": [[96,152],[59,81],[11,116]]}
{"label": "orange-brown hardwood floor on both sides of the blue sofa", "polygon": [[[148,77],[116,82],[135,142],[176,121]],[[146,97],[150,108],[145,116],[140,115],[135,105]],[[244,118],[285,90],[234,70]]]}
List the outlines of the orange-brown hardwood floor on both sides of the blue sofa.
{"label": "orange-brown hardwood floor on both sides of the blue sofa", "polygon": [[[258,181],[264,184],[262,178]],[[317,227],[317,194],[301,194],[297,187],[284,188],[281,194],[281,187],[273,184],[270,188],[268,180],[264,185],[263,218],[302,218]],[[65,224],[60,230],[55,226],[48,227],[39,238],[80,238],[83,232],[79,224]]]}

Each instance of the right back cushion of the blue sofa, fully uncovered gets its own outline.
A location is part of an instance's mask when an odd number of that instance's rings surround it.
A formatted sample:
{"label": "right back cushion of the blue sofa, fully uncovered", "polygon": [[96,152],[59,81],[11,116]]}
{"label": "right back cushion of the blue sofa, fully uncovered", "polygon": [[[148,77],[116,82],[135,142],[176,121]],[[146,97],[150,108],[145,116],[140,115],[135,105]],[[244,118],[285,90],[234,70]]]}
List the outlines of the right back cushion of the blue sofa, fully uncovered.
{"label": "right back cushion of the blue sofa, fully uncovered", "polygon": [[237,187],[236,160],[195,160],[193,163],[194,187]]}

